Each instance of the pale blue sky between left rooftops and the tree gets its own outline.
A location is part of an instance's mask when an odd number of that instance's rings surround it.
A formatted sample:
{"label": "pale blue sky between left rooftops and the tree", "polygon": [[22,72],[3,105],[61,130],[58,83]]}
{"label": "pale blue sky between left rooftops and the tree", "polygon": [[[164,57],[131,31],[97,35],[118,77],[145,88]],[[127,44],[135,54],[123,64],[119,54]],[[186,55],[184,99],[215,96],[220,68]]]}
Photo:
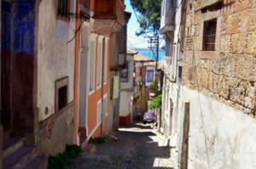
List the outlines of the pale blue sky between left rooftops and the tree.
{"label": "pale blue sky between left rooftops and the tree", "polygon": [[131,19],[128,23],[128,48],[148,48],[148,39],[137,37],[135,32],[139,30],[136,15],[131,7],[130,0],[125,0],[125,10],[131,12]]}

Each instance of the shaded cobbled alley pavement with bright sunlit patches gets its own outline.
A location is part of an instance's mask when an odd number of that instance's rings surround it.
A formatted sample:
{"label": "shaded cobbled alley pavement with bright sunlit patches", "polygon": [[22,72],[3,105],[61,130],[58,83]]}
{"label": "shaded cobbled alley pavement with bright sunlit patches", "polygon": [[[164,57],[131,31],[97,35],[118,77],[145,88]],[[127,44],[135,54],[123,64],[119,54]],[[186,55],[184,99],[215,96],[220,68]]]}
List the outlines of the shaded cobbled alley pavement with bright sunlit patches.
{"label": "shaded cobbled alley pavement with bright sunlit patches", "polygon": [[119,128],[96,153],[83,153],[69,169],[158,169],[173,168],[168,140],[152,125],[142,123]]}

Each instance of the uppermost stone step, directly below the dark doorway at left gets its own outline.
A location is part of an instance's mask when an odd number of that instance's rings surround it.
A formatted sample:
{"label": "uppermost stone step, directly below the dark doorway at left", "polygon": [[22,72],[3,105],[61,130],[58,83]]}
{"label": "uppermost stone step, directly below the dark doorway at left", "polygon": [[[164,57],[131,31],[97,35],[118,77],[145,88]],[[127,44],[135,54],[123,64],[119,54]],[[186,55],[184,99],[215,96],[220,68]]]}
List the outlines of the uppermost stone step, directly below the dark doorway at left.
{"label": "uppermost stone step, directly below the dark doorway at left", "polygon": [[6,144],[3,144],[3,158],[9,157],[15,153],[17,149],[20,149],[24,145],[24,138],[16,136],[9,138],[5,141]]}

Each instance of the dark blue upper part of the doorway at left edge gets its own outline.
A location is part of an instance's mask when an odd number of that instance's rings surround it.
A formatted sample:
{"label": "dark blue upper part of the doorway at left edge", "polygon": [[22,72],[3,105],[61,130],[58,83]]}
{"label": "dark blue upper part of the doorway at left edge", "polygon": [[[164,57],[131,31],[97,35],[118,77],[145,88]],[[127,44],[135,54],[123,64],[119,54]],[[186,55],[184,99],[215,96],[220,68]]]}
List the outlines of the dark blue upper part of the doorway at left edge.
{"label": "dark blue upper part of the doorway at left edge", "polygon": [[34,1],[2,3],[2,50],[13,54],[33,54],[34,51]]}

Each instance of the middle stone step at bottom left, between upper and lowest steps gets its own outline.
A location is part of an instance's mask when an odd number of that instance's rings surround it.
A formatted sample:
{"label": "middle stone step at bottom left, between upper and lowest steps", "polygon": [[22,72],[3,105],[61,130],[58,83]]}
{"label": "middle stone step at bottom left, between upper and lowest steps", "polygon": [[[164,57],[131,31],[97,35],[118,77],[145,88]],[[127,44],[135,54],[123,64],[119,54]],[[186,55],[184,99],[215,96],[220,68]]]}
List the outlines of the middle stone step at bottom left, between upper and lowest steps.
{"label": "middle stone step at bottom left, between upper and lowest steps", "polygon": [[21,169],[38,155],[33,146],[17,149],[12,155],[3,159],[3,169]]}

